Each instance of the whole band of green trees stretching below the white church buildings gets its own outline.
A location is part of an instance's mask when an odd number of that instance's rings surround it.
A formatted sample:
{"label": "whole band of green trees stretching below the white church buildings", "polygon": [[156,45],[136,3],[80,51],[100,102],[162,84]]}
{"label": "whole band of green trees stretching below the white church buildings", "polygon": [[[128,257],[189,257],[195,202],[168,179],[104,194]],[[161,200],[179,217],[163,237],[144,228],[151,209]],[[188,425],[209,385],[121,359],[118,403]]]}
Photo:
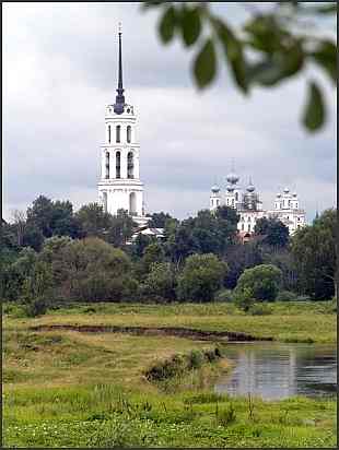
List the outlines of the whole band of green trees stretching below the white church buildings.
{"label": "whole band of green trees stretching below the white church buildings", "polygon": [[[336,286],[336,213],[325,211],[289,236],[278,220],[257,222],[242,244],[234,209],[201,210],[179,221],[151,215],[164,239],[139,234],[126,211],[96,203],[74,212],[40,196],[1,226],[0,296],[34,312],[62,301],[329,299]],[[304,296],[304,297],[303,297]]]}

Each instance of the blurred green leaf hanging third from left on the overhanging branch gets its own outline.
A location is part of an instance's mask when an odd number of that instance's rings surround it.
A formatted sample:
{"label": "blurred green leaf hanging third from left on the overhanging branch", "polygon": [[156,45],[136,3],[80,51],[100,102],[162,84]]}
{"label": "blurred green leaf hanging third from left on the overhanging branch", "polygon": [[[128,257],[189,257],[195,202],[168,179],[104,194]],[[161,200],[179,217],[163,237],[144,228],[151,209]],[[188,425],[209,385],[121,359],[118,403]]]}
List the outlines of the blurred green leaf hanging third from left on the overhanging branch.
{"label": "blurred green leaf hanging third from left on the overhanging branch", "polygon": [[206,87],[215,76],[217,57],[212,39],[207,39],[194,63],[195,79],[198,87]]}

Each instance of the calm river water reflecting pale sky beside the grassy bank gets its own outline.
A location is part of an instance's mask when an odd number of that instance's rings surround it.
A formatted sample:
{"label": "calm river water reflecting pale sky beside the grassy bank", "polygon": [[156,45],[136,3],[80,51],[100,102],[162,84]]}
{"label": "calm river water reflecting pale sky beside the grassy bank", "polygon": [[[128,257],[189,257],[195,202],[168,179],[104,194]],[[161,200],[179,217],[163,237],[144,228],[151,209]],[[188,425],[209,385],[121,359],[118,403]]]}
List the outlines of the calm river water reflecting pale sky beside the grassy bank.
{"label": "calm river water reflecting pale sky beside the grassy bank", "polygon": [[215,392],[231,395],[250,392],[265,400],[336,395],[335,345],[230,344],[225,352],[234,369],[217,380]]}

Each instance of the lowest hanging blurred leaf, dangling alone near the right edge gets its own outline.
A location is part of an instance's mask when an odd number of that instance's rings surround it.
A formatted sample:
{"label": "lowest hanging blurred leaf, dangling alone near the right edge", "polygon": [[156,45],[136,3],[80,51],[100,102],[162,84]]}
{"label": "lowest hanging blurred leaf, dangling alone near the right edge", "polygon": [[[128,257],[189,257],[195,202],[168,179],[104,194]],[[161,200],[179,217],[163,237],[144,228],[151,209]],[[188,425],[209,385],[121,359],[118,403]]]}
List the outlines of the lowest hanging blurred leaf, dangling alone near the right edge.
{"label": "lowest hanging blurred leaf, dangling alone near the right edge", "polygon": [[325,122],[323,94],[315,82],[308,83],[308,98],[304,109],[303,123],[309,131],[318,130]]}

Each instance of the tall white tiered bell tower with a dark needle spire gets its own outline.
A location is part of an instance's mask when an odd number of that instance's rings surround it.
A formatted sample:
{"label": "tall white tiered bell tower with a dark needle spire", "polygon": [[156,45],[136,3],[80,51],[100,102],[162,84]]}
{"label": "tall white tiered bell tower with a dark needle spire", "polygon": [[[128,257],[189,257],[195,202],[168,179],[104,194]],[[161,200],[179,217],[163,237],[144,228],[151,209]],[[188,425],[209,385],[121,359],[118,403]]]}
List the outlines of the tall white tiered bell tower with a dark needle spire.
{"label": "tall white tiered bell tower with a dark needle spire", "polygon": [[138,225],[148,222],[143,211],[143,183],[139,178],[137,117],[125,102],[122,87],[121,31],[116,102],[105,110],[105,141],[101,145],[100,204],[110,214],[126,210]]}

